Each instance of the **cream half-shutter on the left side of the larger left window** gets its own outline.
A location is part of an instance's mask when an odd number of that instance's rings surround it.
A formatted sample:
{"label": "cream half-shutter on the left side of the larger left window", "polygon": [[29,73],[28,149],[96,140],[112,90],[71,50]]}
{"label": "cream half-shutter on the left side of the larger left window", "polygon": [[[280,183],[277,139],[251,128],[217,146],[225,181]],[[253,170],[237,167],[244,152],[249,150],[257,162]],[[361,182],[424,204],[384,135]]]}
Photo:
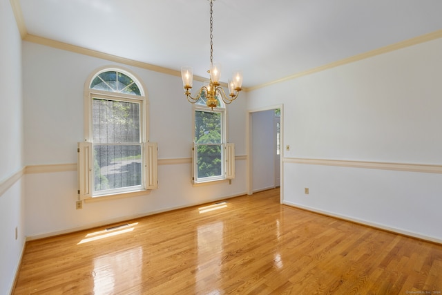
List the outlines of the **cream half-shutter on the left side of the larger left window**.
{"label": "cream half-shutter on the left side of the larger left window", "polygon": [[78,193],[80,200],[92,198],[93,189],[93,151],[91,142],[78,143]]}

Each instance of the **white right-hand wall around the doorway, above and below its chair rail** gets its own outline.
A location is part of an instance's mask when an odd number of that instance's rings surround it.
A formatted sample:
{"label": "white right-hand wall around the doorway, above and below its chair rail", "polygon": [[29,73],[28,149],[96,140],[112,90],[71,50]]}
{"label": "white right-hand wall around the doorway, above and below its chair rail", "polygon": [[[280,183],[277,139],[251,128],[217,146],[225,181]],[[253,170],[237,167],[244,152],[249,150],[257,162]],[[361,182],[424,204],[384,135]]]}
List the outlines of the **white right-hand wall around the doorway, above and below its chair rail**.
{"label": "white right-hand wall around the doorway, above and below its chair rail", "polygon": [[441,241],[442,174],[293,161],[441,165],[441,52],[436,39],[249,93],[249,108],[284,104],[284,202]]}

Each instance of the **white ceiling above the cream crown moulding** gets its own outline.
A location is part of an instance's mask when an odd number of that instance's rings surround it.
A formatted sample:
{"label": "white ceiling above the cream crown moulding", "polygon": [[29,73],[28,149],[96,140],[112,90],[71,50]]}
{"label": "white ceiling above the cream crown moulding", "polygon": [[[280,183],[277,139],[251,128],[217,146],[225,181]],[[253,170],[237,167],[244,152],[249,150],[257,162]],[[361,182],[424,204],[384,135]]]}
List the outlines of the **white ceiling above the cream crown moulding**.
{"label": "white ceiling above the cream crown moulding", "polygon": [[[208,0],[17,1],[30,35],[207,76]],[[213,61],[251,87],[441,29],[441,0],[216,0]]]}

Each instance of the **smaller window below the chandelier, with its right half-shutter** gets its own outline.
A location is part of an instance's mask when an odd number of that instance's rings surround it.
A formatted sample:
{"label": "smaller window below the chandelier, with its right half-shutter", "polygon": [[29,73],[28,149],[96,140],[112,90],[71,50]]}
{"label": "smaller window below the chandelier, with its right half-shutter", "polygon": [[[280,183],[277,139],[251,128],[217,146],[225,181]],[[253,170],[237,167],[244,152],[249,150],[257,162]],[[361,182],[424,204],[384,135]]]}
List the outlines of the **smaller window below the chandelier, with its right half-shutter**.
{"label": "smaller window below the chandelier, with its right half-shutter", "polygon": [[218,105],[211,110],[203,95],[193,108],[195,183],[235,178],[234,146],[227,143],[226,108],[222,102]]}

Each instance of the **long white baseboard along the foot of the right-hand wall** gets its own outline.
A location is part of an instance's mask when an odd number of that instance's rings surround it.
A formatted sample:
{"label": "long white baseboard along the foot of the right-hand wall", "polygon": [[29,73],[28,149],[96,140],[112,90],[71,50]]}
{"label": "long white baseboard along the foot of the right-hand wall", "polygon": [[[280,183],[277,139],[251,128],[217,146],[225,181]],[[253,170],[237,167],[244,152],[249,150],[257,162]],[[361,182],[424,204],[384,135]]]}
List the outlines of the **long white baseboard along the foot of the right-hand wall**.
{"label": "long white baseboard along the foot of the right-hand wall", "polygon": [[421,234],[416,234],[416,233],[411,232],[411,231],[405,231],[403,229],[396,229],[394,227],[387,227],[385,225],[380,225],[378,223],[369,222],[367,220],[361,220],[361,219],[358,219],[358,218],[352,218],[352,217],[349,217],[349,216],[343,216],[343,215],[332,213],[332,212],[329,212],[329,211],[323,211],[323,210],[320,210],[320,209],[315,209],[315,208],[311,208],[311,207],[307,207],[307,206],[302,206],[300,204],[295,204],[295,203],[292,203],[292,202],[282,201],[282,204],[285,204],[285,205],[290,206],[290,207],[295,207],[295,208],[298,208],[298,209],[303,209],[303,210],[306,210],[306,211],[311,211],[311,212],[314,212],[314,213],[320,213],[320,214],[325,215],[325,216],[330,216],[330,217],[334,217],[334,218],[338,218],[338,219],[342,219],[342,220],[347,220],[349,222],[357,223],[358,225],[365,225],[367,227],[374,227],[376,229],[381,229],[383,231],[390,231],[390,232],[392,232],[394,234],[401,234],[403,236],[409,236],[411,238],[418,238],[419,240],[426,240],[428,242],[435,242],[437,244],[442,244],[442,240],[441,239],[434,238],[432,236],[424,236],[424,235],[421,235]]}

